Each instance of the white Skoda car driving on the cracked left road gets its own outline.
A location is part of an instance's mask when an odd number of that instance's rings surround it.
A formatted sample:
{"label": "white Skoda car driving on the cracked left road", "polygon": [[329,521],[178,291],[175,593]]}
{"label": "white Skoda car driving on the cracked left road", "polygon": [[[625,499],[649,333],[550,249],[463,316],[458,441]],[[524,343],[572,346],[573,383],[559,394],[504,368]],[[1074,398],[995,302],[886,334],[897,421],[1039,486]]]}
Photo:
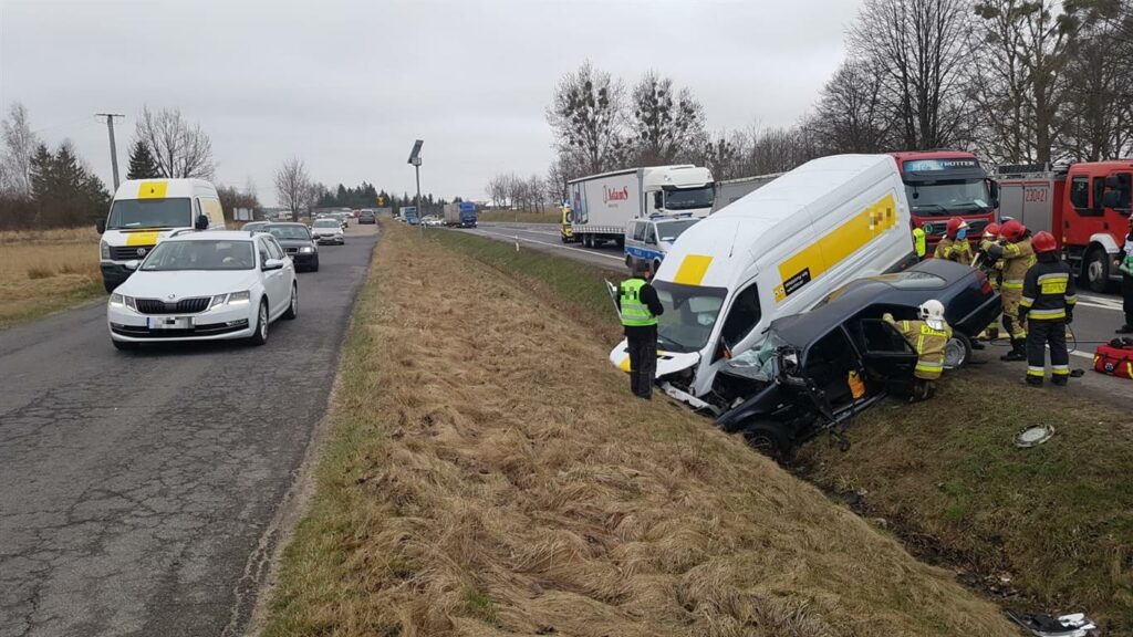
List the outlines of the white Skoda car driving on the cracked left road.
{"label": "white Skoda car driving on the cracked left road", "polygon": [[272,321],[299,313],[295,266],[267,233],[180,231],[126,266],[134,273],[107,306],[118,349],[219,339],[263,345]]}

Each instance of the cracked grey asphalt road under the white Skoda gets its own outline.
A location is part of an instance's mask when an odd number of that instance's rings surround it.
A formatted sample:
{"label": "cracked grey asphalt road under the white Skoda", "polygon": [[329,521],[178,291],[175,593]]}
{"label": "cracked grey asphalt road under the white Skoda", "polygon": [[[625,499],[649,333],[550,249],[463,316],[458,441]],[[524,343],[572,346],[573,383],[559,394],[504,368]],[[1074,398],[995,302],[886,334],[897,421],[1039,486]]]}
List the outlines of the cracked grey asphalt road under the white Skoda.
{"label": "cracked grey asphalt road under the white Skoda", "polygon": [[119,353],[102,304],[0,332],[0,637],[240,632],[375,243],[259,348]]}

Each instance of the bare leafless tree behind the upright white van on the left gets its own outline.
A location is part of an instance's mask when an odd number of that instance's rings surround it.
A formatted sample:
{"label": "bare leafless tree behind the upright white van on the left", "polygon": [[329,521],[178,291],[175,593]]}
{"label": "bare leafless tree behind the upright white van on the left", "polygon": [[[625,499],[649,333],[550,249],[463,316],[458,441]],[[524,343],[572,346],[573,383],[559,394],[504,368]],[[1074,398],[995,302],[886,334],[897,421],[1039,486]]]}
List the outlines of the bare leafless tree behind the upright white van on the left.
{"label": "bare leafless tree behind the upright white van on the left", "polygon": [[180,109],[154,112],[143,107],[134,136],[150,146],[162,177],[212,178],[212,141],[199,124],[186,121]]}

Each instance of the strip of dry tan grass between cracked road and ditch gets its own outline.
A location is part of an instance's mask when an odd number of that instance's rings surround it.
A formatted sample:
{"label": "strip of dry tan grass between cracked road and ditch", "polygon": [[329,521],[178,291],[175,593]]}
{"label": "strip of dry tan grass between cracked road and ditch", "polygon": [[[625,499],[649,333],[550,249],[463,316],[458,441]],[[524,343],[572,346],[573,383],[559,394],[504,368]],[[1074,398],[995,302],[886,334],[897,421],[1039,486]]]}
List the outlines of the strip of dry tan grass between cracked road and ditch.
{"label": "strip of dry tan grass between cracked road and ditch", "polygon": [[580,318],[600,304],[386,228],[265,635],[1015,635],[735,438],[629,398]]}

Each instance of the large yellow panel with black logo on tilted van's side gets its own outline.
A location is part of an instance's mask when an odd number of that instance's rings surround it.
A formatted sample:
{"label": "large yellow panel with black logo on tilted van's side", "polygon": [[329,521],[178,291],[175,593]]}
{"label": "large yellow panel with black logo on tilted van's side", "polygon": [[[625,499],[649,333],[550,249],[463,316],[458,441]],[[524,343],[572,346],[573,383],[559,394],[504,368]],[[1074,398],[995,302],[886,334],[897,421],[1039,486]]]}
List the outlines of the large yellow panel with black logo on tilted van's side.
{"label": "large yellow panel with black logo on tilted van's side", "polygon": [[781,263],[783,284],[775,288],[775,300],[791,296],[896,223],[897,202],[893,195],[886,195]]}

